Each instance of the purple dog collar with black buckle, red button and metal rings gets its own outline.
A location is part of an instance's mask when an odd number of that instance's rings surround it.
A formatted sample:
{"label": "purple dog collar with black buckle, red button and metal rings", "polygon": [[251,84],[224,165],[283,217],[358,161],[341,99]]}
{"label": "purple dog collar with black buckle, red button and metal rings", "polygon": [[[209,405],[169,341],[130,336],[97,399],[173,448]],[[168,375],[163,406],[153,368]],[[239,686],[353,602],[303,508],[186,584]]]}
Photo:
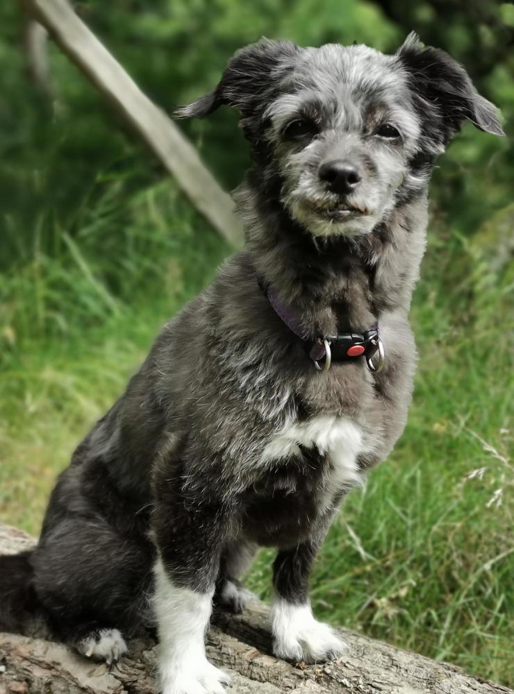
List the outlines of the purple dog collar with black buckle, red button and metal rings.
{"label": "purple dog collar with black buckle, red button and metal rings", "polygon": [[[258,284],[270,302],[274,312],[304,343],[304,348],[318,371],[328,371],[332,362],[350,362],[359,357],[365,357],[370,371],[380,371],[383,366],[384,350],[380,338],[379,323],[374,323],[364,332],[344,332],[338,335],[317,335],[311,339],[306,332],[301,319],[295,310],[284,304],[276,291],[266,286],[259,278]],[[375,365],[372,358],[379,353]],[[320,364],[322,362],[322,364]]]}

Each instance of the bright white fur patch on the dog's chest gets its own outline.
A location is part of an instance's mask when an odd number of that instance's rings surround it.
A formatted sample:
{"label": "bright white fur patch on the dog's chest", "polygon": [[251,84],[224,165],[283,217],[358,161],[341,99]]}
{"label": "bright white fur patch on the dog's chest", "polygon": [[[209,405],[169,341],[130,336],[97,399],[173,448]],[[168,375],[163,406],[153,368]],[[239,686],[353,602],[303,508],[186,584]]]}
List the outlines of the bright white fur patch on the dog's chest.
{"label": "bright white fur patch on the dog's chest", "polygon": [[360,484],[357,456],[364,448],[363,431],[351,419],[324,414],[283,428],[267,442],[261,462],[298,455],[300,446],[317,448],[329,457],[320,505],[327,507],[336,493]]}

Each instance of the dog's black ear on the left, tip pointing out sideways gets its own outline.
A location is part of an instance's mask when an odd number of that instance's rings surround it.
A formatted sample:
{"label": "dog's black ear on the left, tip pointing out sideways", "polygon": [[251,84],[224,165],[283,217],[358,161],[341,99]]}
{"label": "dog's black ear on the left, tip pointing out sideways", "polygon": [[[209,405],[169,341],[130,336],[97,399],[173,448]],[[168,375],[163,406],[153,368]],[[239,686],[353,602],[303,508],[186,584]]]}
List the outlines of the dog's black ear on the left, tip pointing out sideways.
{"label": "dog's black ear on the left, tip pointing out sideways", "polygon": [[299,51],[290,41],[263,39],[237,51],[227,65],[217,87],[175,112],[176,117],[208,116],[221,105],[235,106],[241,112],[253,109],[270,88],[279,67],[292,67]]}

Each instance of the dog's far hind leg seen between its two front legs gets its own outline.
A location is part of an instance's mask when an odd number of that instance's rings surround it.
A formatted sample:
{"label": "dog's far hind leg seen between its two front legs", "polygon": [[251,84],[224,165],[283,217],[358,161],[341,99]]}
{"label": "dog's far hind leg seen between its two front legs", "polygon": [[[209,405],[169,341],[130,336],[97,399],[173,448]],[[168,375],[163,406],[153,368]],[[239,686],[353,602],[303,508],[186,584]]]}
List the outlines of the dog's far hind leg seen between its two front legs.
{"label": "dog's far hind leg seen between its two front legs", "polygon": [[229,612],[242,613],[247,602],[254,598],[240,579],[254,559],[256,548],[254,543],[234,540],[227,543],[222,552],[214,602]]}

